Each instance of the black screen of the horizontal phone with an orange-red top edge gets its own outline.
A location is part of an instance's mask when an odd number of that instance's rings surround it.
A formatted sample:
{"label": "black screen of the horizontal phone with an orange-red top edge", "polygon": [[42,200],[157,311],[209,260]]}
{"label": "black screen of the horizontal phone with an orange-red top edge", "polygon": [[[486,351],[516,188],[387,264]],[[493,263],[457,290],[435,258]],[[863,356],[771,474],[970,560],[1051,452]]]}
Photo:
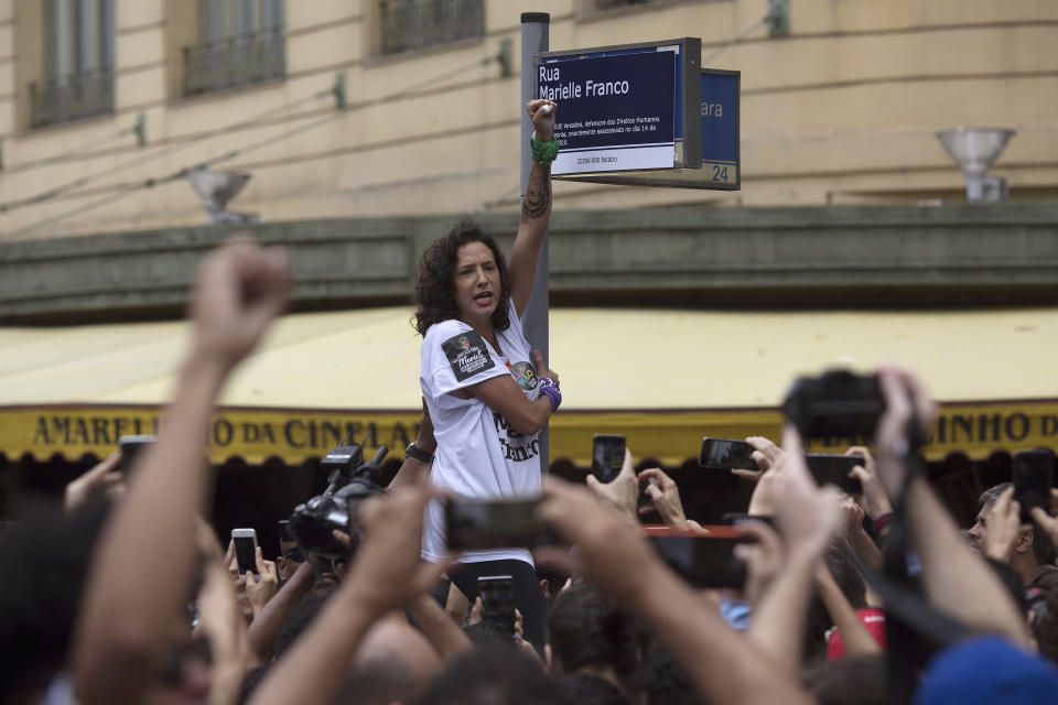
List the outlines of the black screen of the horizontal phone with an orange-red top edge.
{"label": "black screen of the horizontal phone with an orange-red top edge", "polygon": [[695,587],[742,589],[746,566],[735,558],[734,547],[745,538],[650,536],[661,558]]}

